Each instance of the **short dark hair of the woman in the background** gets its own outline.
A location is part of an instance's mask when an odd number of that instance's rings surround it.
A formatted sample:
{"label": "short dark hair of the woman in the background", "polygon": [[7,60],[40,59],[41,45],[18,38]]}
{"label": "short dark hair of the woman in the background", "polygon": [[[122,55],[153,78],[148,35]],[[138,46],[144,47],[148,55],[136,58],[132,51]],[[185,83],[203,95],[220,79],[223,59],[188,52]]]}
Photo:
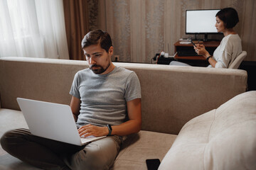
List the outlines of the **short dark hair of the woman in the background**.
{"label": "short dark hair of the woman in the background", "polygon": [[223,21],[225,28],[233,28],[239,22],[238,12],[234,8],[223,8],[216,16]]}

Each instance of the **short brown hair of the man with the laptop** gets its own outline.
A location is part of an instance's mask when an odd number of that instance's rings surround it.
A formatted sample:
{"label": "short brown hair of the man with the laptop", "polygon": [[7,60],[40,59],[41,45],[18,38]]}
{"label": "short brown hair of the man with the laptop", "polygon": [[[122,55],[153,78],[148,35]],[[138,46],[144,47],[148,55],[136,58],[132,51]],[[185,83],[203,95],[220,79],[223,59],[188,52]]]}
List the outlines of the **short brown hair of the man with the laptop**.
{"label": "short brown hair of the man with the laptop", "polygon": [[110,35],[103,30],[92,30],[85,35],[81,42],[82,49],[97,44],[100,44],[100,47],[108,52],[112,46]]}

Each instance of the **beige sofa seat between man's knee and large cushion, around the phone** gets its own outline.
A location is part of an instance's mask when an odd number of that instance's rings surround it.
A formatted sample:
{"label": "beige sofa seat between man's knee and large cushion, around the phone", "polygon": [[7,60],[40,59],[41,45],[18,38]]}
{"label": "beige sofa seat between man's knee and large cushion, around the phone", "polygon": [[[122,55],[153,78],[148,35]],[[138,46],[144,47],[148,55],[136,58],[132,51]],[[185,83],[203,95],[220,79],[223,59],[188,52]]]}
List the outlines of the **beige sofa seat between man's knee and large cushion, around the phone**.
{"label": "beige sofa seat between man's knee and large cushion, around the phone", "polygon": [[145,130],[130,135],[127,140],[124,140],[122,150],[119,152],[112,169],[146,170],[146,159],[162,160],[176,136]]}

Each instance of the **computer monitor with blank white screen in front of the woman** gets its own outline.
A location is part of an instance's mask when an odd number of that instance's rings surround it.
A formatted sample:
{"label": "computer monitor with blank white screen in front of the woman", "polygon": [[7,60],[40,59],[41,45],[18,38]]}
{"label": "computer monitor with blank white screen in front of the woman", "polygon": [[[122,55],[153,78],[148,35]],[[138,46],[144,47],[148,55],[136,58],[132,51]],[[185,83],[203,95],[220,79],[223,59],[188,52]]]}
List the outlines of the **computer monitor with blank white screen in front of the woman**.
{"label": "computer monitor with blank white screen in front of the woman", "polygon": [[220,9],[186,10],[186,34],[204,34],[204,40],[208,40],[208,34],[218,34],[215,28],[218,11]]}

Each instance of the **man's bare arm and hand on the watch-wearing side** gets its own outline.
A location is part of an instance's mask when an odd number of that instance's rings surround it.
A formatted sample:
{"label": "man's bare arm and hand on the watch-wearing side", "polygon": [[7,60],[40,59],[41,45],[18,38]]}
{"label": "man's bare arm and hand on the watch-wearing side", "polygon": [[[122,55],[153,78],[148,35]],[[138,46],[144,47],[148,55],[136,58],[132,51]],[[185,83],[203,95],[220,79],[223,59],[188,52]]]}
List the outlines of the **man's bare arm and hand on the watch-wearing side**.
{"label": "man's bare arm and hand on the watch-wearing side", "polygon": [[[142,102],[141,98],[136,98],[132,101],[127,102],[127,112],[129,120],[121,125],[112,126],[111,135],[129,135],[135,132],[139,132],[142,128]],[[80,136],[84,137],[94,136],[105,136],[108,135],[109,130],[107,127],[99,127],[95,125],[85,125],[79,128]]]}

